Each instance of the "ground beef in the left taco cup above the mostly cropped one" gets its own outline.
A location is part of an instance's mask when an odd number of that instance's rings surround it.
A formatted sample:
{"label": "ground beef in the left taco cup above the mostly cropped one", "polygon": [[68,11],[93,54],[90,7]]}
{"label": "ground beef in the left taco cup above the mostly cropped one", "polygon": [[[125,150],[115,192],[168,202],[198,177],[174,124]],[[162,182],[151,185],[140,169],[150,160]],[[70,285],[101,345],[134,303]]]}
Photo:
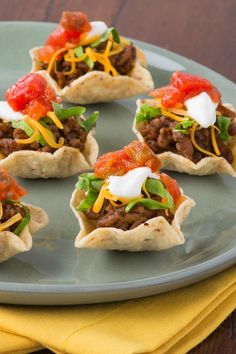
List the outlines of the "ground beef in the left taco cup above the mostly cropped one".
{"label": "ground beef in the left taco cup above the mostly cropped one", "polygon": [[[60,137],[64,138],[64,145],[71,146],[84,151],[85,142],[88,133],[80,127],[75,117],[71,117],[62,121],[64,129],[58,129],[55,124],[48,125],[53,133],[56,141]],[[15,139],[27,139],[28,135],[22,129],[14,129],[11,123],[3,122],[0,119],[0,153],[8,156],[14,151],[34,150],[53,153],[56,149],[51,146],[41,146],[37,141],[31,144],[17,144]]]}

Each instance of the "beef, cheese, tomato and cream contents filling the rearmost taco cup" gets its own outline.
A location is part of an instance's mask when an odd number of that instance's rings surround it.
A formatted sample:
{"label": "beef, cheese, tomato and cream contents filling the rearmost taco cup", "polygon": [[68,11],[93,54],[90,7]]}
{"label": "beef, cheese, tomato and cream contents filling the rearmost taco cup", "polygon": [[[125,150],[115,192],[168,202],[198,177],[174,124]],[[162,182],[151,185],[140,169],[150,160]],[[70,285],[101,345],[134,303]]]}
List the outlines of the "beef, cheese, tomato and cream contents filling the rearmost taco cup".
{"label": "beef, cheese, tomato and cream contents filling the rearmost taco cup", "polygon": [[91,70],[127,75],[135,58],[135,48],[120,38],[115,28],[102,21],[89,23],[80,12],[63,12],[60,26],[37,50],[41,69],[46,69],[60,87]]}

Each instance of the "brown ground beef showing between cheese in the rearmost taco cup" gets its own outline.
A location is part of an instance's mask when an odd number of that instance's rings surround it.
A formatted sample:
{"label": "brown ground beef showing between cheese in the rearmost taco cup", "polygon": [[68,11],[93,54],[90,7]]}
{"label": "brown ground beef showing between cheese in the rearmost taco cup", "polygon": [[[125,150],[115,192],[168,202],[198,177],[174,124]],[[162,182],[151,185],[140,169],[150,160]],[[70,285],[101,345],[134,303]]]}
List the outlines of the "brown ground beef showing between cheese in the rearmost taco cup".
{"label": "brown ground beef showing between cheese in the rearmost taco cup", "polygon": [[[106,48],[107,42],[101,43],[94,48],[97,52],[102,52]],[[122,52],[110,57],[112,66],[120,75],[127,75],[134,66],[136,59],[136,49],[132,44],[124,47]],[[42,69],[46,70],[48,64],[42,64]],[[76,71],[71,75],[64,75],[66,71],[70,71],[71,64],[62,58],[57,62],[57,70],[51,72],[51,76],[57,81],[60,87],[69,85],[75,79],[85,75],[89,70],[89,66],[85,62],[76,63]],[[95,63],[93,70],[104,71],[104,66],[98,62]]]}

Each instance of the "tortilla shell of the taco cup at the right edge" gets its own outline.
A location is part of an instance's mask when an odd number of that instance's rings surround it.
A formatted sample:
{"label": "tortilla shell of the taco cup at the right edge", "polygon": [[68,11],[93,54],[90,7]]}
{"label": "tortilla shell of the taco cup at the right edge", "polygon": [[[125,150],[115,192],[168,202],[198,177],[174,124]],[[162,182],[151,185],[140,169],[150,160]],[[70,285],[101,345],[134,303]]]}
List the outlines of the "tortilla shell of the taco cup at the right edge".
{"label": "tortilla shell of the taco cup at the right edge", "polygon": [[[143,103],[149,105],[154,105],[155,100],[138,100],[137,101],[137,112],[140,110],[140,106]],[[224,104],[227,108],[234,110],[230,104]],[[136,126],[136,121],[134,119],[133,132],[137,136],[138,140],[145,142],[143,136],[138,131]],[[189,175],[205,176],[214,173],[219,174],[229,174],[236,177],[236,138],[231,138],[229,141],[230,148],[233,154],[233,163],[230,165],[229,162],[223,157],[205,157],[201,159],[198,163],[187,159],[184,156],[175,154],[171,151],[166,151],[161,154],[156,154],[158,159],[161,161],[161,166],[165,170],[184,172]]]}

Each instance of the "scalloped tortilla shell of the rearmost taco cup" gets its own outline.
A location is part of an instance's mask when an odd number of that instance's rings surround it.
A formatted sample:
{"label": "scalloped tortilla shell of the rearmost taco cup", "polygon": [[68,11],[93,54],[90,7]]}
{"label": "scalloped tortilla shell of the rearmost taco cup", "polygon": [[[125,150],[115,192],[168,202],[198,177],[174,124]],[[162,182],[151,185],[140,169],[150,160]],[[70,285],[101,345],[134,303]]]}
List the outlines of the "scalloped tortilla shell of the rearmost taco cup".
{"label": "scalloped tortilla shell of the rearmost taco cup", "polygon": [[39,47],[30,50],[31,71],[42,75],[64,101],[78,104],[109,102],[140,95],[154,87],[150,72],[142,65],[145,64],[145,56],[140,49],[137,50],[137,59],[129,75],[113,77],[105,72],[94,70],[74,80],[63,89],[46,70],[40,70],[40,62],[36,59],[37,49]]}

